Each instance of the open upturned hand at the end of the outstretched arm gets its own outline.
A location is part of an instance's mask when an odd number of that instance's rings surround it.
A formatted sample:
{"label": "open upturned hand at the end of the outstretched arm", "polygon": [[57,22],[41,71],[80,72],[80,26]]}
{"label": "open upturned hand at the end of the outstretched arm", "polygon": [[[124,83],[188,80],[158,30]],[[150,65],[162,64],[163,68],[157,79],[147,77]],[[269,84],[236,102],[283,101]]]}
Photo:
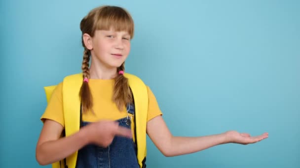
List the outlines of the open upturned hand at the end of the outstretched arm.
{"label": "open upturned hand at the end of the outstretched arm", "polygon": [[256,143],[258,141],[268,138],[268,133],[263,133],[262,135],[251,137],[248,133],[238,133],[237,131],[227,131],[225,132],[226,137],[229,142],[240,143],[240,144],[249,144]]}

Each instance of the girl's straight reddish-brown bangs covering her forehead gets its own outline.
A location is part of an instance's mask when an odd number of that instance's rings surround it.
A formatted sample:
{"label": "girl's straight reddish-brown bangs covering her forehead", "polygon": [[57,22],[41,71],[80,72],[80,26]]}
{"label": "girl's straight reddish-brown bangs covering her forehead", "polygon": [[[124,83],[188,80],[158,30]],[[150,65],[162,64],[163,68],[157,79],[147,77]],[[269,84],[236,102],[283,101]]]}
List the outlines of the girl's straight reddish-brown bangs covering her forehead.
{"label": "girl's straight reddish-brown bangs covering her forehead", "polygon": [[95,19],[97,30],[126,31],[130,34],[130,38],[133,38],[133,19],[124,9],[115,6],[103,8],[95,17],[98,17]]}

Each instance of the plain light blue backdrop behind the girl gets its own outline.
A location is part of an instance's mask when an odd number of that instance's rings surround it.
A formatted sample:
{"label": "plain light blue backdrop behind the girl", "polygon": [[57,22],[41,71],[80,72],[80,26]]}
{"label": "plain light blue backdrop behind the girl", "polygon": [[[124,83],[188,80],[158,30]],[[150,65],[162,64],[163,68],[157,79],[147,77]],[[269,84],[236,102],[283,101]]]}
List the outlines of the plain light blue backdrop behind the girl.
{"label": "plain light blue backdrop behind the girl", "polygon": [[149,168],[300,168],[298,0],[2,0],[1,168],[40,167],[43,86],[80,72],[79,22],[103,4],[132,14],[126,72],[150,86],[175,136],[269,133],[171,158],[148,138]]}

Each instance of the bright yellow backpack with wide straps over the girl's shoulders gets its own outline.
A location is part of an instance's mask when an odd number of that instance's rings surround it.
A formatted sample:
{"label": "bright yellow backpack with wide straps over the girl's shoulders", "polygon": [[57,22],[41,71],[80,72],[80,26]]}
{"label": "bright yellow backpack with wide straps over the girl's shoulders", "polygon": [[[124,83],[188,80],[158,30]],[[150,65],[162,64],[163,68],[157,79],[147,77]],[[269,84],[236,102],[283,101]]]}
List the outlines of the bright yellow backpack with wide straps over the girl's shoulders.
{"label": "bright yellow backpack with wide straps over the girl's shoulders", "polygon": [[[135,132],[137,144],[137,158],[141,168],[146,168],[146,125],[148,113],[148,90],[143,81],[137,76],[124,73],[128,78],[129,86],[132,90],[135,104]],[[63,106],[65,118],[65,136],[68,137],[79,131],[80,124],[80,99],[79,90],[83,81],[82,74],[70,75],[63,81]],[[44,87],[49,102],[56,85]],[[73,153],[66,159],[53,163],[52,168],[75,168],[77,153]],[[65,163],[65,161],[67,163]]]}

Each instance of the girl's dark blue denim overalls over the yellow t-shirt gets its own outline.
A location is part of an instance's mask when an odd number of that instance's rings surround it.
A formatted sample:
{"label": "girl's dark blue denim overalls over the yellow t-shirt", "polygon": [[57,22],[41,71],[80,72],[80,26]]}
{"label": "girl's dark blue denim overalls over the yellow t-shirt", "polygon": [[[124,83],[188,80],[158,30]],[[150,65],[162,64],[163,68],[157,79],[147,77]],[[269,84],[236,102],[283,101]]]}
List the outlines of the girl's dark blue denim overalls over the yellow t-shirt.
{"label": "girl's dark blue denim overalls over the yellow t-shirt", "polygon": [[[126,109],[134,115],[133,104],[127,105]],[[81,127],[90,123],[81,119],[80,122]],[[119,126],[131,129],[131,118],[128,115],[117,122]],[[78,150],[76,168],[140,168],[136,151],[136,144],[132,139],[115,136],[106,148],[88,144]]]}

